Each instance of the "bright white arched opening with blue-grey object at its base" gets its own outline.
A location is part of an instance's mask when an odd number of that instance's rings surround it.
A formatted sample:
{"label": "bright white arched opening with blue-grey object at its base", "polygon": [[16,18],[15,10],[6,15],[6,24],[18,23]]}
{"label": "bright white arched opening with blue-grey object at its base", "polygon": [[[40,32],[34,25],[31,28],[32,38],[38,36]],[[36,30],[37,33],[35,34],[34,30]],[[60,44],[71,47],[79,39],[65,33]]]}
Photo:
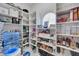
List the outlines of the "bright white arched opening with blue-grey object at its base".
{"label": "bright white arched opening with blue-grey object at its base", "polygon": [[51,24],[56,24],[55,13],[47,13],[43,18],[43,27],[50,27]]}

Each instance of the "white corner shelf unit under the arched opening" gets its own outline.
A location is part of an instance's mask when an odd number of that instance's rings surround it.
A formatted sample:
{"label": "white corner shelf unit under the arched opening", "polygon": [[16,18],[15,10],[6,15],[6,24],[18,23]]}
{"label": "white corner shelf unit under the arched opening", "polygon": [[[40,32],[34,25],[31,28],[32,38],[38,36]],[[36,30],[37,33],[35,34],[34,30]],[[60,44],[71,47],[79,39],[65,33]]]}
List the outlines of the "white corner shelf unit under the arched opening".
{"label": "white corner shelf unit under the arched opening", "polygon": [[[41,50],[43,50],[43,51],[45,51],[45,52],[47,52],[48,54],[51,54],[51,55],[54,55],[54,56],[56,56],[56,52],[54,52],[54,47],[56,47],[56,46],[54,46],[54,44],[55,43],[53,43],[53,42],[50,42],[50,41],[54,41],[54,42],[56,42],[56,24],[53,24],[54,25],[54,27],[52,26],[52,27],[50,27],[50,28],[36,28],[37,29],[37,39],[38,38],[40,38],[41,40],[39,41],[39,40],[37,40],[37,43],[38,44],[42,44],[42,45],[46,45],[46,46],[48,46],[48,47],[51,47],[51,49],[50,50],[53,50],[52,52],[50,52],[50,51],[47,51],[46,49],[44,49],[44,48],[40,48],[39,46],[38,46],[38,50],[39,49],[41,49]],[[40,29],[41,30],[49,30],[49,32],[51,32],[51,33],[48,33],[48,34],[46,34],[46,33],[41,33],[41,32],[39,32],[40,31]],[[55,29],[55,32],[52,32],[51,30],[52,29]],[[53,36],[51,36],[53,34]],[[44,40],[47,40],[47,41],[42,41],[42,39],[44,39]]]}

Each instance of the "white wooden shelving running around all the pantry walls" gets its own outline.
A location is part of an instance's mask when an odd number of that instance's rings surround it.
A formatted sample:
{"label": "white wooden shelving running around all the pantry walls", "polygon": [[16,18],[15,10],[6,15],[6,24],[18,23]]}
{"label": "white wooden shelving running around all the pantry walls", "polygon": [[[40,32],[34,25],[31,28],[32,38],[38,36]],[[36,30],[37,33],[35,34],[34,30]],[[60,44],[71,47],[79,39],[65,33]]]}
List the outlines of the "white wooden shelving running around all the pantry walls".
{"label": "white wooden shelving running around all the pantry walls", "polygon": [[[10,7],[10,8],[12,8],[12,7]],[[13,7],[13,8],[15,8],[15,7]],[[69,50],[69,51],[74,51],[74,52],[78,52],[79,53],[79,49],[77,49],[77,48],[72,49],[70,47],[66,47],[66,46],[62,46],[62,45],[57,45],[57,43],[55,45],[53,45],[50,42],[46,43],[46,42],[43,42],[43,41],[38,41],[38,38],[43,38],[43,39],[49,39],[49,40],[53,40],[54,39],[55,42],[57,42],[57,38],[56,37],[58,35],[59,36],[67,36],[67,37],[79,37],[79,35],[71,35],[71,34],[67,34],[67,33],[66,34],[54,33],[54,37],[51,37],[50,34],[48,36],[46,36],[46,35],[44,36],[42,34],[38,35],[39,29],[40,30],[42,30],[42,29],[50,29],[50,30],[56,29],[56,31],[57,31],[57,28],[54,28],[54,27],[53,28],[38,28],[37,23],[36,23],[36,12],[33,12],[33,13],[25,13],[22,10],[19,10],[19,9],[17,9],[17,10],[18,10],[18,12],[20,11],[22,13],[21,16],[23,16],[23,18],[16,17],[16,16],[11,16],[11,14],[6,15],[6,14],[2,14],[2,13],[0,13],[0,16],[4,16],[4,17],[8,17],[8,18],[21,19],[21,23],[20,24],[4,23],[4,25],[10,26],[10,27],[11,26],[14,26],[14,27],[16,26],[16,28],[18,27],[19,30],[21,30],[21,40],[22,40],[21,41],[22,42],[21,43],[21,50],[22,50],[21,52],[22,53],[24,52],[24,50],[29,49],[29,48],[32,48],[32,46],[35,46],[36,47],[36,49],[35,49],[36,54],[39,54],[38,50],[41,49],[41,50],[47,52],[48,54],[52,54],[52,55],[55,55],[55,56],[63,56],[62,54],[58,54],[57,51],[55,51],[53,53],[53,52],[47,51],[44,48],[39,48],[37,46],[38,43],[41,43],[41,44],[44,44],[44,45],[47,45],[47,46],[50,46],[50,47],[60,47],[60,48],[63,48],[63,49]],[[68,13],[69,11],[70,10],[58,11],[56,14],[57,15],[61,15],[61,14],[64,14],[66,12]],[[35,23],[33,21],[35,21]],[[55,26],[57,26],[57,25],[64,25],[64,24],[66,24],[66,25],[67,24],[75,24],[75,23],[79,23],[79,21],[60,22],[60,23],[57,23]],[[25,44],[23,44],[23,41],[24,40],[27,40],[27,37],[23,37],[23,34],[24,34],[23,33],[23,26],[29,27],[29,34],[28,34],[29,35],[29,37],[28,37],[29,38],[29,42],[27,42]],[[72,27],[79,27],[79,26],[72,26]],[[35,32],[32,31],[33,28],[35,28],[35,30],[36,30]],[[31,36],[31,34],[33,34],[33,33],[35,34],[35,37],[34,38]],[[33,44],[32,41],[35,41],[36,44]],[[27,45],[29,45],[29,46],[27,46]],[[24,49],[25,46],[26,46],[26,48]],[[33,52],[33,50],[32,50],[32,52]],[[34,54],[34,55],[36,55],[36,54]]]}

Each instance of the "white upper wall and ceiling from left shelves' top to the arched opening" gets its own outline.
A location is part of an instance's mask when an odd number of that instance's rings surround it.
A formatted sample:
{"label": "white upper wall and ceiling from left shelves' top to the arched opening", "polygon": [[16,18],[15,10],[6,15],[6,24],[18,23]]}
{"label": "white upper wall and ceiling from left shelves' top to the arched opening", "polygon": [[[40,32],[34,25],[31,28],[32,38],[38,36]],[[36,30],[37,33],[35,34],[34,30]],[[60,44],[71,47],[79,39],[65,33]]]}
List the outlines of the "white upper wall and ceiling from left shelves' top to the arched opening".
{"label": "white upper wall and ceiling from left shelves' top to the arched opening", "polygon": [[22,9],[26,8],[30,12],[36,11],[36,19],[38,20],[38,24],[42,24],[42,20],[45,14],[56,12],[55,3],[15,3],[15,5],[20,6]]}

